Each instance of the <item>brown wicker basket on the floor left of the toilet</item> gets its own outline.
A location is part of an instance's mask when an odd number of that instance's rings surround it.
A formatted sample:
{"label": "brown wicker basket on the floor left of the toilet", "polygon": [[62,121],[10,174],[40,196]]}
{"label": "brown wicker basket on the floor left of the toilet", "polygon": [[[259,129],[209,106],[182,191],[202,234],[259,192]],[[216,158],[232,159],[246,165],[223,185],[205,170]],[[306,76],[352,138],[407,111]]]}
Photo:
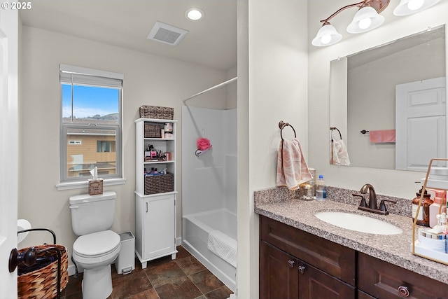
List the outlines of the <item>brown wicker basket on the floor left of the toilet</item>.
{"label": "brown wicker basket on the floor left of the toilet", "polygon": [[[38,251],[38,258],[43,256],[55,257],[55,261],[33,272],[18,275],[18,298],[22,299],[41,299],[57,297],[57,253],[50,248],[56,247],[61,252],[61,279],[60,291],[63,291],[69,282],[69,259],[65,246],[59,244],[43,244],[33,246]],[[19,252],[25,252],[31,247],[20,249]],[[47,251],[48,249],[48,251]]]}

